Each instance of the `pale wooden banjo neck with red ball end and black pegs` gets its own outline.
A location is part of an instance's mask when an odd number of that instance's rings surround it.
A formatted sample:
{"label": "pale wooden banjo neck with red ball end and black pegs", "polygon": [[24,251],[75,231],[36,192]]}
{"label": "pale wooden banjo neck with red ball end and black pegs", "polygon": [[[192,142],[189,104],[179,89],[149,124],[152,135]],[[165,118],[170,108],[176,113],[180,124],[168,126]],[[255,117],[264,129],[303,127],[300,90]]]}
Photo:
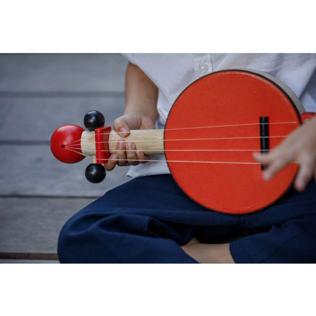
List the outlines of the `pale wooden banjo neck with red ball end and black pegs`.
{"label": "pale wooden banjo neck with red ball end and black pegs", "polygon": [[135,143],[136,150],[146,155],[163,155],[164,130],[131,130],[127,137],[112,131],[111,126],[103,126],[105,119],[98,111],[88,112],[83,119],[85,131],[74,124],[60,126],[51,137],[53,155],[64,163],[76,163],[86,156],[92,163],[85,171],[86,178],[92,183],[99,183],[105,178],[103,165],[115,154],[119,140]]}

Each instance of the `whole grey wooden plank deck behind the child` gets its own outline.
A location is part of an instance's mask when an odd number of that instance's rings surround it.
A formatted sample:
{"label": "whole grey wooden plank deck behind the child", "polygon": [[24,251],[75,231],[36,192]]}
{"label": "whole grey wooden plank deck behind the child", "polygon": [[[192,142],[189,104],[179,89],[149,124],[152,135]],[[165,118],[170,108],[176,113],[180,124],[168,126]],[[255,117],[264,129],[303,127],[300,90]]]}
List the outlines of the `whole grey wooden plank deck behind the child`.
{"label": "whole grey wooden plank deck behind the child", "polygon": [[63,124],[89,110],[106,125],[124,109],[127,61],[119,54],[0,54],[0,263],[58,263],[64,222],[128,181],[125,167],[89,183],[88,158],[67,165],[49,148]]}

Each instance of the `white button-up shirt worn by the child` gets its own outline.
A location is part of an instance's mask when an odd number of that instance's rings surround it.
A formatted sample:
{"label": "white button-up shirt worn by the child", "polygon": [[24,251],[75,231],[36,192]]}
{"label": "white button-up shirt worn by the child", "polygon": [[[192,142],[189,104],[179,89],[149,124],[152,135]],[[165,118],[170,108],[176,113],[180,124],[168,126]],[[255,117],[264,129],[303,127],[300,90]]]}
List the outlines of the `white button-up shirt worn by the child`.
{"label": "white button-up shirt worn by the child", "polygon": [[[158,87],[156,128],[163,129],[179,94],[198,78],[226,69],[253,69],[284,82],[307,112],[316,112],[316,54],[123,54]],[[164,155],[154,156],[165,160]],[[131,166],[128,176],[170,173],[166,162]]]}

